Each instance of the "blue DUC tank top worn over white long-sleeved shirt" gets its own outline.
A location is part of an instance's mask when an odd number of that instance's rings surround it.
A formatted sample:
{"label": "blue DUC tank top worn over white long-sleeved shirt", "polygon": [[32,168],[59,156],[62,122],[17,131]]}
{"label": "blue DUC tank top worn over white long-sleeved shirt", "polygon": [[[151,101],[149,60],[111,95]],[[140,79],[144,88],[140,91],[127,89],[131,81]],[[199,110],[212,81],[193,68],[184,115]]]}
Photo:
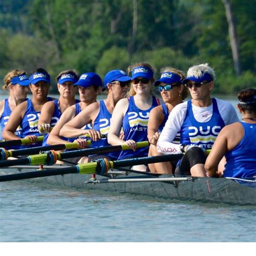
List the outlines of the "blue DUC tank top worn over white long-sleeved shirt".
{"label": "blue DUC tank top worn over white long-sleeved shirt", "polygon": [[212,118],[205,123],[197,122],[192,111],[192,102],[187,102],[187,112],[185,120],[180,129],[180,143],[189,145],[202,145],[205,149],[211,149],[218,133],[225,126],[220,116],[217,101],[212,98],[213,113]]}

